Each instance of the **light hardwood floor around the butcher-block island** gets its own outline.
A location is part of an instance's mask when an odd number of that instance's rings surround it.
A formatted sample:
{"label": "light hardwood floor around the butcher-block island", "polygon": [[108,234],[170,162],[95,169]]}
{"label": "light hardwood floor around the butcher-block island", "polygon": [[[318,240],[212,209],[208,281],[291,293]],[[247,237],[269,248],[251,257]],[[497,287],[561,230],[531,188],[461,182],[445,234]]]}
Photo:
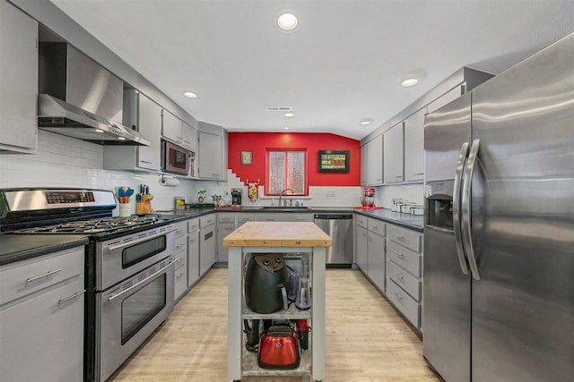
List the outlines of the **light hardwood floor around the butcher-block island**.
{"label": "light hardwood floor around the butcher-block island", "polygon": [[[120,369],[117,382],[227,381],[227,269],[212,269]],[[291,382],[299,378],[243,378]],[[358,270],[326,271],[325,382],[440,381],[421,340]]]}

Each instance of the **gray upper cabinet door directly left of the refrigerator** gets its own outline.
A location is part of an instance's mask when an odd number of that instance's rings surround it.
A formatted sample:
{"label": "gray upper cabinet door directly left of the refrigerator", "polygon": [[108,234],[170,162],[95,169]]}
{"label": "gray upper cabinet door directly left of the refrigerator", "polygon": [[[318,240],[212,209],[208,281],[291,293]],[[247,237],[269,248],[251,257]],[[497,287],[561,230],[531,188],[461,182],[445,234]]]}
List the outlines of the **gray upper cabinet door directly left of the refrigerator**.
{"label": "gray upper cabinet door directly left of the refrigerator", "polygon": [[424,115],[426,108],[404,120],[404,181],[424,179]]}

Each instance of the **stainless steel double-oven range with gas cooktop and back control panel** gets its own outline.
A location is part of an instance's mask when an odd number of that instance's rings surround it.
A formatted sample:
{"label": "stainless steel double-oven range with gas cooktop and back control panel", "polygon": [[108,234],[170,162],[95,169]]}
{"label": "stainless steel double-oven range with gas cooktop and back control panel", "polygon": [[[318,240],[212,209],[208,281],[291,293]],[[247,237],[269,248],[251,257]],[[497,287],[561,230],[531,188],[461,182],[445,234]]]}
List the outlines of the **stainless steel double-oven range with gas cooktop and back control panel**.
{"label": "stainless steel double-oven range with gas cooktop and back control panel", "polygon": [[85,234],[84,380],[105,381],[173,310],[175,225],[112,217],[111,191],[0,191],[0,229]]}

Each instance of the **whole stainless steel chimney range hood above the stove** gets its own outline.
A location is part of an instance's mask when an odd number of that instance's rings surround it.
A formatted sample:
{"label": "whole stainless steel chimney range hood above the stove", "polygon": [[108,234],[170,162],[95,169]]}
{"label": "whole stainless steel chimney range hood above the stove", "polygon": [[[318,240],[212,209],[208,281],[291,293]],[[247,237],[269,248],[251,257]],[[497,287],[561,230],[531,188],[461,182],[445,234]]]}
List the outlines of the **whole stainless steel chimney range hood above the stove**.
{"label": "whole stainless steel chimney range hood above the stove", "polygon": [[121,123],[123,94],[123,81],[74,47],[39,44],[39,129],[101,145],[150,146]]}

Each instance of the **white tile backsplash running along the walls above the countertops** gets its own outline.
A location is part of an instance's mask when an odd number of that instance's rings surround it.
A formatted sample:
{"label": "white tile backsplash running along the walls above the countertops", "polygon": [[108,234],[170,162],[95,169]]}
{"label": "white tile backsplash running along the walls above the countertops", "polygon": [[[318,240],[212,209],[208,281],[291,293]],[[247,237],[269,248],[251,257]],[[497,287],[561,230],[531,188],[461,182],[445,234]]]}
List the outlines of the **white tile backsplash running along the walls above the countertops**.
{"label": "white tile backsplash running along the walls above the countertops", "polygon": [[[211,195],[224,195],[231,188],[242,188],[243,205],[265,206],[276,203],[277,198],[261,197],[251,202],[247,187],[230,171],[228,182],[182,179],[177,187],[159,184],[157,174],[135,173],[103,169],[103,146],[74,140],[53,132],[38,132],[38,153],[0,155],[0,188],[12,187],[74,187],[113,190],[127,186],[137,191],[140,183],[148,184],[153,195],[155,210],[174,207],[174,196],[182,195],[187,202],[197,201],[197,191],[206,190],[205,202]],[[309,187],[309,197],[303,200],[309,207],[356,207],[360,205],[361,187]],[[263,195],[261,191],[260,196]],[[230,199],[230,195],[227,197]],[[132,202],[132,212],[135,203]],[[116,212],[117,213],[117,212]]]}

